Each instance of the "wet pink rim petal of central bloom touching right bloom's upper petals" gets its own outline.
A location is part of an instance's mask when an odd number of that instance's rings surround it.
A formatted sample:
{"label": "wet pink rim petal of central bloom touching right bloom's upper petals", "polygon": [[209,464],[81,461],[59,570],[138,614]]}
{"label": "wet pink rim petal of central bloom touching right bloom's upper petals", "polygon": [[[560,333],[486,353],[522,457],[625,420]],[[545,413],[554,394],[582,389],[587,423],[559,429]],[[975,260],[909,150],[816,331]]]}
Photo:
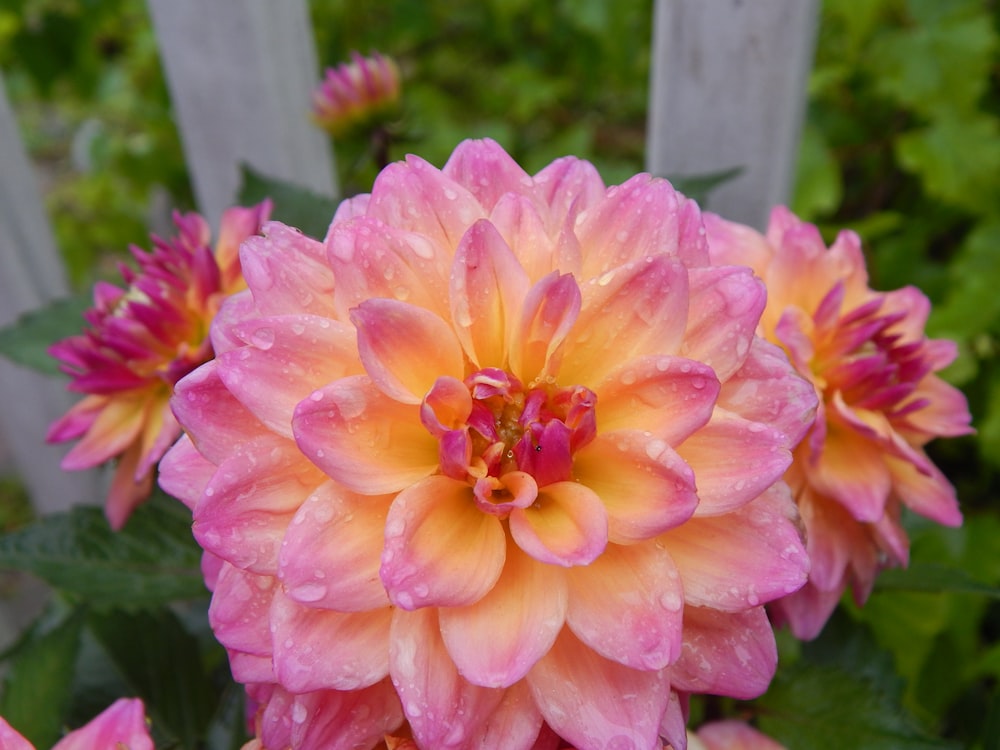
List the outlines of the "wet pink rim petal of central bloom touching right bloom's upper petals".
{"label": "wet pink rim petal of central bloom touching right bloom's upper petals", "polygon": [[691,307],[680,354],[704,362],[725,383],[750,352],[767,292],[749,268],[691,271]]}

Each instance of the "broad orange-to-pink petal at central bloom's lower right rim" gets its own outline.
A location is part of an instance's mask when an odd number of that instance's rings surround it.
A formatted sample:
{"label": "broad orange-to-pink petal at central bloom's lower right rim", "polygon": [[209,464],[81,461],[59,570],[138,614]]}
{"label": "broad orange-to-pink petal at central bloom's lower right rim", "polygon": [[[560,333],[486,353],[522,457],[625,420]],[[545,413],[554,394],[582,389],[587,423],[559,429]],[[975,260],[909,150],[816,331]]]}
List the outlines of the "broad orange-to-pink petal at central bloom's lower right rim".
{"label": "broad orange-to-pink petal at central bloom's lower right rim", "polygon": [[736,611],[805,583],[809,558],[795,521],[781,483],[742,508],[692,518],[660,539],[681,572],[688,604]]}

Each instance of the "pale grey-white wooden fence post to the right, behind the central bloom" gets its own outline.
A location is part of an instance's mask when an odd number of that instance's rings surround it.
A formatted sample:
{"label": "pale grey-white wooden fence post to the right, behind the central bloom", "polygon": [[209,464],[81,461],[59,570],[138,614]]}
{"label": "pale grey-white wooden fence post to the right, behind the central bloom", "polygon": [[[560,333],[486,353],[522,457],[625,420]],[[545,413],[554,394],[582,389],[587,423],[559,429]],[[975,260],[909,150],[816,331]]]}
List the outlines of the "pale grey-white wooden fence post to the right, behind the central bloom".
{"label": "pale grey-white wooden fence post to the right, behind the central bloom", "polygon": [[646,168],[742,167],[709,208],[763,228],[789,199],[818,0],[656,0]]}

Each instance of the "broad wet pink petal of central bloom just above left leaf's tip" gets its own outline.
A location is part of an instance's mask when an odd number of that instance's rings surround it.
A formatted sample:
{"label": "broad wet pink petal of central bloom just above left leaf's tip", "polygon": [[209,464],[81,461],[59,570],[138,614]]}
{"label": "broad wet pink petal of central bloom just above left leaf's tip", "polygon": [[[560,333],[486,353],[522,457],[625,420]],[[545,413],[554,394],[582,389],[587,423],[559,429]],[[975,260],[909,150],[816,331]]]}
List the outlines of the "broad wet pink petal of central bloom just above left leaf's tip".
{"label": "broad wet pink petal of central bloom just above left leaf's tip", "polygon": [[292,515],[322,481],[294,443],[261,435],[219,464],[195,508],[195,538],[240,568],[274,574]]}

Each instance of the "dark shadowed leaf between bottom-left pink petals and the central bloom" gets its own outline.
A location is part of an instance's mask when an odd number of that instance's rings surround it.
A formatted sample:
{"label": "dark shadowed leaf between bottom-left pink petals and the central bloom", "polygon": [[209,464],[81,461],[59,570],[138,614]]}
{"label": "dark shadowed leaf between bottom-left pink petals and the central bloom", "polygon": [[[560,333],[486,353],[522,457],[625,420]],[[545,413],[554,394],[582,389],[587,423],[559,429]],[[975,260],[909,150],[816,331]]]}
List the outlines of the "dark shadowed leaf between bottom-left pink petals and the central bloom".
{"label": "dark shadowed leaf between bottom-left pink petals and the central bloom", "polygon": [[[197,639],[169,609],[91,613],[90,631],[143,699],[158,734],[197,747],[218,696],[202,663]],[[162,743],[161,743],[162,744]]]}

